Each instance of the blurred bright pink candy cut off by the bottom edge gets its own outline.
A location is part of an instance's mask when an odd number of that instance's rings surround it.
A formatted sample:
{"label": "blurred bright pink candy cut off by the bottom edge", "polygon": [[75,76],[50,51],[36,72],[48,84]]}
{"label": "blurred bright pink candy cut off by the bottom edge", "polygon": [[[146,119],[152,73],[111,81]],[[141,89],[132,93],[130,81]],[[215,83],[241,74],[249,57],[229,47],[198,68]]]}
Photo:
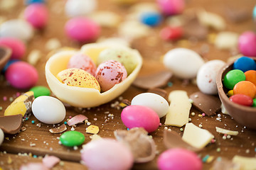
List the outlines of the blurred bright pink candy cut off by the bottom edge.
{"label": "blurred bright pink candy cut off by the bottom edge", "polygon": [[157,159],[157,166],[160,170],[203,169],[201,159],[194,152],[181,148],[168,149],[161,153]]}

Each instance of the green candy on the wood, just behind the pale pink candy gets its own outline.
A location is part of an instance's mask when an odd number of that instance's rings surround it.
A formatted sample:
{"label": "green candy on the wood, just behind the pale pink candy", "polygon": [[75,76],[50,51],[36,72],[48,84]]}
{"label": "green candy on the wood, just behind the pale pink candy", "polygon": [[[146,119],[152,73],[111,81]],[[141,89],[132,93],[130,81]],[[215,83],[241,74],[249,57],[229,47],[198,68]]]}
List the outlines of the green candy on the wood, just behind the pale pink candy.
{"label": "green candy on the wood, just behind the pale pink candy", "polygon": [[68,131],[60,135],[60,142],[66,147],[75,147],[82,145],[85,142],[85,136],[78,131]]}

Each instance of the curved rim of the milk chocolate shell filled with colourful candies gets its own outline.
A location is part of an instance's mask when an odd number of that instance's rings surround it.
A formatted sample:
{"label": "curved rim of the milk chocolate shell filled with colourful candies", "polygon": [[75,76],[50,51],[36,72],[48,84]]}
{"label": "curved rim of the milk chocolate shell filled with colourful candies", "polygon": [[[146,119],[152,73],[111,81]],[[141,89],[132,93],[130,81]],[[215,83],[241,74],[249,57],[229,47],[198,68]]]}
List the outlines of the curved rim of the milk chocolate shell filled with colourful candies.
{"label": "curved rim of the milk chocolate shell filled with colourful candies", "polygon": [[[252,59],[255,60],[255,62],[256,62],[256,59],[254,59],[254,58],[252,58]],[[225,74],[227,74],[230,70],[233,69],[233,64],[234,64],[234,62],[229,62],[228,64],[225,64],[225,66],[223,66],[220,69],[220,71],[218,72],[218,76],[216,79],[216,84],[218,87],[218,94],[219,94],[219,96],[220,96],[220,94],[224,94],[224,95],[221,95],[222,97],[220,97],[220,100],[225,100],[233,108],[236,108],[239,110],[242,109],[242,110],[248,111],[248,112],[253,112],[253,111],[255,112],[256,108],[249,107],[249,106],[242,106],[242,105],[239,105],[238,103],[234,103],[234,102],[230,101],[230,99],[227,96],[228,89],[226,89],[225,86],[223,86],[223,79],[225,77]],[[225,91],[227,91],[227,92],[225,92]]]}

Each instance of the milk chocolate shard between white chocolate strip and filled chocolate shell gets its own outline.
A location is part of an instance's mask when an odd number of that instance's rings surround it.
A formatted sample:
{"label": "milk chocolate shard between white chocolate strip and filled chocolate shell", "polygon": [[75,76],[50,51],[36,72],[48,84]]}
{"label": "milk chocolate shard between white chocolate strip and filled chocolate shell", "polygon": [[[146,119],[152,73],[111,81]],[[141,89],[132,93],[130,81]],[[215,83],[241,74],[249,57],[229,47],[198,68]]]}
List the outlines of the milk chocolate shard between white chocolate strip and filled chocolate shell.
{"label": "milk chocolate shard between white chocolate strip and filled chocolate shell", "polygon": [[218,96],[203,94],[197,91],[189,96],[193,100],[193,106],[206,115],[215,115],[220,111],[221,101]]}

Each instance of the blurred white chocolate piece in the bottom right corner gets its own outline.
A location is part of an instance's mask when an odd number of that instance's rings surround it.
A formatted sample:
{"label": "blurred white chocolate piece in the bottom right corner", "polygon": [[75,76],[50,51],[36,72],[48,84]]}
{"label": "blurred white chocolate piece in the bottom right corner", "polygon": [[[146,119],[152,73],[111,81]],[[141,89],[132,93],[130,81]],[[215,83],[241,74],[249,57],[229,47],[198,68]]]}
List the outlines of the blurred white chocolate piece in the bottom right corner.
{"label": "blurred white chocolate piece in the bottom right corner", "polygon": [[235,164],[240,164],[243,170],[255,170],[256,169],[256,158],[255,157],[241,157],[235,155],[232,162]]}

